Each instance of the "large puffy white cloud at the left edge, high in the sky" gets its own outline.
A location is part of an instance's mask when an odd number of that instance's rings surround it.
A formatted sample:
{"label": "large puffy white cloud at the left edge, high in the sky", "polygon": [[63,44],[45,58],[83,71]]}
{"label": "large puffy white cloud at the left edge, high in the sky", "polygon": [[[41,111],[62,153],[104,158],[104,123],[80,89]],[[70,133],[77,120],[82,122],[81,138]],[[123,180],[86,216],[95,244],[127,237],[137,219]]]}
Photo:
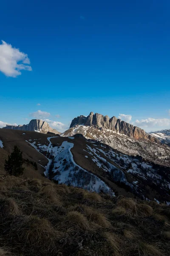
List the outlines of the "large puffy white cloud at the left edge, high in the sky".
{"label": "large puffy white cloud at the left edge, high in the sky", "polygon": [[[20,64],[18,64],[20,63]],[[32,71],[28,55],[2,41],[0,44],[0,71],[6,76],[17,77],[20,70]]]}

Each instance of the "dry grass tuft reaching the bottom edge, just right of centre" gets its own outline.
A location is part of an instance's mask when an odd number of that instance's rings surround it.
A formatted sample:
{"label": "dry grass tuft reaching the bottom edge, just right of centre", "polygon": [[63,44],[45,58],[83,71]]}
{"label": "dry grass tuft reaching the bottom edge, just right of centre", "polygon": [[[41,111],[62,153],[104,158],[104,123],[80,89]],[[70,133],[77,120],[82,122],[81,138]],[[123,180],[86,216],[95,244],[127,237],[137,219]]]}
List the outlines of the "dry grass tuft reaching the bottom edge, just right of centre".
{"label": "dry grass tuft reaching the bottom edge, just right of centre", "polygon": [[104,237],[108,241],[108,243],[111,245],[111,247],[113,248],[114,255],[119,256],[120,255],[119,248],[120,248],[120,242],[121,242],[119,237],[116,234],[111,233],[111,232],[104,233]]}

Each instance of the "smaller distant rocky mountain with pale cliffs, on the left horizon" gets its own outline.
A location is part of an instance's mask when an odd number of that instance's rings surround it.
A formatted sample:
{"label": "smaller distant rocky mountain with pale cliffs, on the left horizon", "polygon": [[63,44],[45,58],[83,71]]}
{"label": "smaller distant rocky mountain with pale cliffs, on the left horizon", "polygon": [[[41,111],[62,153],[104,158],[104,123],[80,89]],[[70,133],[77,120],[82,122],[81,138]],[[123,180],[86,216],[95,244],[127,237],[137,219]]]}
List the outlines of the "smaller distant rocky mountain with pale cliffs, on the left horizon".
{"label": "smaller distant rocky mountain with pale cliffs, on the left horizon", "polygon": [[47,122],[40,119],[32,119],[28,125],[6,125],[3,129],[13,129],[13,130],[22,130],[22,131],[37,131],[41,133],[52,132],[54,134],[60,134],[59,131],[51,128]]}

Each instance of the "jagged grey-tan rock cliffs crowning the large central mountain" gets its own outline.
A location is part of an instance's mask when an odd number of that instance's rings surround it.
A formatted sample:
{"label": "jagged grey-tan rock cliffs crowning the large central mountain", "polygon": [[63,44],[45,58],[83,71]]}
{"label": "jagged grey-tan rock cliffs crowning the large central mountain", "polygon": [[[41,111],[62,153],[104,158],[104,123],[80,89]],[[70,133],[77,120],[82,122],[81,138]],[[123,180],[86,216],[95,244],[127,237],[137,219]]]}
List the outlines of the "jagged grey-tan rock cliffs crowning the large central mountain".
{"label": "jagged grey-tan rock cliffs crowning the large central mountain", "polygon": [[116,133],[119,134],[125,134],[129,137],[133,137],[136,140],[149,139],[152,142],[158,142],[156,138],[150,136],[141,128],[130,125],[129,123],[122,121],[121,119],[118,119],[115,116],[109,118],[108,116],[103,116],[98,113],[94,114],[93,112],[91,112],[87,117],[78,116],[74,118],[71,122],[70,128],[74,125],[94,126],[98,129],[105,128],[111,131],[115,131]]}

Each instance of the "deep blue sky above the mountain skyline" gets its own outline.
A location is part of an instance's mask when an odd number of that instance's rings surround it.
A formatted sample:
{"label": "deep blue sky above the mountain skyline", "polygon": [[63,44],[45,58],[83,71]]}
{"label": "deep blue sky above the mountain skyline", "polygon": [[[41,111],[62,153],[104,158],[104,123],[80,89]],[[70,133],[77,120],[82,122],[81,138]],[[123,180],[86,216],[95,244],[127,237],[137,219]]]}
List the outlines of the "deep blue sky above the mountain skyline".
{"label": "deep blue sky above the mountain skyline", "polygon": [[170,128],[169,10],[168,0],[2,1],[0,125],[41,118],[61,131],[93,111]]}

